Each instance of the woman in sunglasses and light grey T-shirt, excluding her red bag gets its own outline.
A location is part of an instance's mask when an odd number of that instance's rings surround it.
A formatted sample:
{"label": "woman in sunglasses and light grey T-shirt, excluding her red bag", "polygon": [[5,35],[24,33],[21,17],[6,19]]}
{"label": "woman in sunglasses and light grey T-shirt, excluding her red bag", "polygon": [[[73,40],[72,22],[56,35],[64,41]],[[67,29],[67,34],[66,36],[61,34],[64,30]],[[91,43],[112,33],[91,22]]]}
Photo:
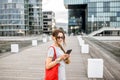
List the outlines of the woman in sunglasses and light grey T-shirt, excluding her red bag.
{"label": "woman in sunglasses and light grey T-shirt, excluding her red bag", "polygon": [[55,30],[52,33],[52,39],[54,43],[51,45],[55,48],[57,58],[53,61],[54,49],[50,47],[48,49],[48,56],[46,59],[46,69],[51,69],[56,64],[60,64],[58,68],[58,80],[66,80],[65,76],[65,63],[69,64],[69,54],[65,54],[65,50],[62,44],[65,44],[65,34],[61,30]]}

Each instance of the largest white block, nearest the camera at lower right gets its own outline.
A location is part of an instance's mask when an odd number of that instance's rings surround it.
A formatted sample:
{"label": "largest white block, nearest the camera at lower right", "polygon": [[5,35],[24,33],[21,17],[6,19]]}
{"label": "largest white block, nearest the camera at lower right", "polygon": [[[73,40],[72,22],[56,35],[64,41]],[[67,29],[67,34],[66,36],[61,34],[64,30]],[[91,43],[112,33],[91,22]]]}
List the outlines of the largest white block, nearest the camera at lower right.
{"label": "largest white block, nearest the camera at lower right", "polygon": [[103,78],[103,59],[88,59],[88,78]]}

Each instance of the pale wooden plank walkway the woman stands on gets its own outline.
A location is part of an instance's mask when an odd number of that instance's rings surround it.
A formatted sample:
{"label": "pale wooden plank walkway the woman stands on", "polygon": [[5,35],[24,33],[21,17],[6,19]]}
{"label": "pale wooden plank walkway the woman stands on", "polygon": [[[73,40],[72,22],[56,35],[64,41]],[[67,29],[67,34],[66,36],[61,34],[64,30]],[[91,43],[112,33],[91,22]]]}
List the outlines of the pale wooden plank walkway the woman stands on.
{"label": "pale wooden plank walkway the woman stands on", "polygon": [[[51,43],[52,41],[48,41],[38,46],[30,46],[18,53],[5,53],[6,55],[0,57],[0,80],[43,80],[45,58]],[[87,59],[91,58],[91,55],[81,54],[76,36],[67,37],[66,44],[66,50],[73,49],[70,58],[71,64],[66,65],[67,80],[115,80],[115,76],[111,75],[107,69],[109,65],[105,66],[103,79],[89,79],[87,77]],[[93,52],[92,48],[90,49]],[[118,68],[119,65],[113,66]],[[117,75],[114,74],[118,77],[117,79],[120,79],[119,73],[118,71],[116,72]]]}

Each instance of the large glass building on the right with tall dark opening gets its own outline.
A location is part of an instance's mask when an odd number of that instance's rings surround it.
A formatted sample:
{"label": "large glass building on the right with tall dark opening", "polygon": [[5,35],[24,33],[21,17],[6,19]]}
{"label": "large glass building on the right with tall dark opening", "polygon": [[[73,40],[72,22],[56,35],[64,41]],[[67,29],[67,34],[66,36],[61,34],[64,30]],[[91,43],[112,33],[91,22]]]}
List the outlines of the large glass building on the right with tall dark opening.
{"label": "large glass building on the right with tall dark opening", "polygon": [[64,0],[64,5],[70,34],[120,27],[120,0]]}

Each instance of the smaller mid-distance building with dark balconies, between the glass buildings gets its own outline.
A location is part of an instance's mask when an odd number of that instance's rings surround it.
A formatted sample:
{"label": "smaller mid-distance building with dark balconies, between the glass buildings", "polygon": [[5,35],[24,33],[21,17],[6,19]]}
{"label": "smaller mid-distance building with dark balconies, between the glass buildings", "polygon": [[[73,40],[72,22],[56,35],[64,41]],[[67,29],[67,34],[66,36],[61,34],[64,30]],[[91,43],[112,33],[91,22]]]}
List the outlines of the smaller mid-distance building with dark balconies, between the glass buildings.
{"label": "smaller mid-distance building with dark balconies, between the glass buildings", "polygon": [[55,13],[43,11],[43,33],[50,34],[55,29]]}

